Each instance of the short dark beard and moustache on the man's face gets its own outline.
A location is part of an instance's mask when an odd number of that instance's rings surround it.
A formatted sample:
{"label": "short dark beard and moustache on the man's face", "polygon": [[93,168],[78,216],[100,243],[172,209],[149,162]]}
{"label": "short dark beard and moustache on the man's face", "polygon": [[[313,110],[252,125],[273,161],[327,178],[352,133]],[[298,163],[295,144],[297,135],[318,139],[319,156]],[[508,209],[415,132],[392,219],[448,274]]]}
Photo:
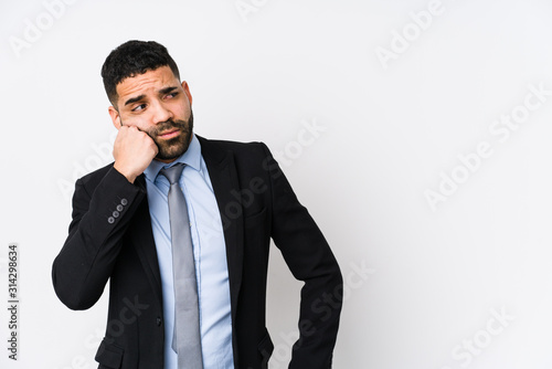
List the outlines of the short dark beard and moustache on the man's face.
{"label": "short dark beard and moustache on the man's face", "polygon": [[[177,137],[171,139],[160,139],[159,134],[170,130],[170,129],[179,129],[180,134]],[[169,119],[163,123],[157,124],[149,130],[146,130],[153,143],[156,143],[159,152],[156,156],[156,159],[159,160],[174,160],[184,154],[190,146],[190,140],[193,131],[193,113],[190,110],[190,117],[188,120],[172,120]]]}

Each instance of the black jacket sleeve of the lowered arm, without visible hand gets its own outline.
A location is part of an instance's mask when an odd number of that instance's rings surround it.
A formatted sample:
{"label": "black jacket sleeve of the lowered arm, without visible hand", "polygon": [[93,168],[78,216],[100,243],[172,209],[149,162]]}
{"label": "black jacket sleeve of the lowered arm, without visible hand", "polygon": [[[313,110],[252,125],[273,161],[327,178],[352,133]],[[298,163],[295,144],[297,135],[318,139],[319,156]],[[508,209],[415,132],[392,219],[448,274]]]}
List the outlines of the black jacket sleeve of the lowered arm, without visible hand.
{"label": "black jacket sleeve of the lowered arm, without visible hand", "polygon": [[343,281],[321,231],[295,196],[279,166],[264,146],[272,181],[272,236],[301,288],[299,339],[290,369],[331,368],[339,327]]}

